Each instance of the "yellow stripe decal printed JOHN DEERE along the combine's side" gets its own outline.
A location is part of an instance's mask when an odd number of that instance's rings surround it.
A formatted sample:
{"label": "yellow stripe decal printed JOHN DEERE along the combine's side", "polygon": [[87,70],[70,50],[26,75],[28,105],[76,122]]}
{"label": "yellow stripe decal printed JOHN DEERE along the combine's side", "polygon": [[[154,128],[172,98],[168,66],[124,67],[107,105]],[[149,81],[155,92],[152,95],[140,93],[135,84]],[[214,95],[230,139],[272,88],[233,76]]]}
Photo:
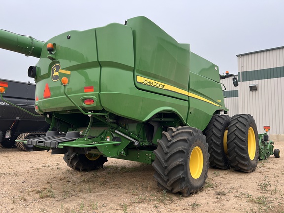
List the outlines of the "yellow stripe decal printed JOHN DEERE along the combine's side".
{"label": "yellow stripe decal printed JOHN DEERE along the combine's side", "polygon": [[151,80],[149,78],[144,78],[144,77],[141,77],[141,76],[138,76],[138,75],[136,75],[136,81],[138,83],[142,83],[142,84],[145,84],[147,86],[152,86],[152,87],[156,87],[156,88],[159,88],[159,89],[165,89],[165,90],[169,90],[169,91],[172,91],[172,92],[177,92],[177,93],[180,93],[182,95],[187,95],[189,97],[196,98],[196,99],[199,99],[201,101],[205,101],[205,102],[213,104],[215,106],[222,107],[221,105],[218,105],[218,104],[216,104],[216,103],[214,103],[214,102],[212,102],[208,99],[205,99],[201,96],[198,96],[194,93],[187,92],[186,90],[179,89],[178,87],[174,87],[174,86],[171,86],[171,85],[159,82],[159,81]]}

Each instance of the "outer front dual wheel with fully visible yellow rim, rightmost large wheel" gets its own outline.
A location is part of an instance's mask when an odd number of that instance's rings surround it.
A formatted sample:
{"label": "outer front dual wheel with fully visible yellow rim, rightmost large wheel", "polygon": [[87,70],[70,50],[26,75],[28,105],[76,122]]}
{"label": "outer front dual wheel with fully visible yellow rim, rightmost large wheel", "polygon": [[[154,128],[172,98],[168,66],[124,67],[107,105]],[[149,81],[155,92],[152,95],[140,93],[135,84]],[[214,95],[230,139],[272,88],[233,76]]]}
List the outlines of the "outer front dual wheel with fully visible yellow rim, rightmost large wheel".
{"label": "outer front dual wheel with fully visible yellow rim, rightmost large wheel", "polygon": [[227,137],[231,167],[243,172],[253,172],[259,155],[258,133],[253,117],[249,114],[233,116]]}

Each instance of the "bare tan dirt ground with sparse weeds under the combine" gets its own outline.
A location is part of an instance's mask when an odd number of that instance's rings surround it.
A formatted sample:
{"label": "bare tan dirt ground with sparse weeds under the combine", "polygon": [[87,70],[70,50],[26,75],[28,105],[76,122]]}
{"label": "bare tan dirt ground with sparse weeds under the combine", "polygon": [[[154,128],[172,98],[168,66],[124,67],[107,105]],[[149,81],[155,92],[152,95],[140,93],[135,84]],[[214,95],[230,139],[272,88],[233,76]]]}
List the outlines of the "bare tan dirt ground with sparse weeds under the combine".
{"label": "bare tan dirt ground with sparse weeds under the combine", "polygon": [[[275,142],[283,150],[284,142]],[[247,174],[210,168],[189,197],[157,187],[151,165],[108,159],[78,172],[63,155],[0,148],[0,213],[284,213],[284,160],[270,156]]]}

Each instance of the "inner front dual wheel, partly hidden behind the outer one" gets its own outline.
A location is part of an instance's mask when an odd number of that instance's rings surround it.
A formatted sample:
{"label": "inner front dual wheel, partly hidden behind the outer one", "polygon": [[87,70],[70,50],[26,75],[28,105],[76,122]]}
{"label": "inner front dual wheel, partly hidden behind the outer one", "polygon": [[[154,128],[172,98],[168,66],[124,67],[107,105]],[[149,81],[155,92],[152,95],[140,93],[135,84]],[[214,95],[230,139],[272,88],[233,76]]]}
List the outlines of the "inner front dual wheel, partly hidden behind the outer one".
{"label": "inner front dual wheel, partly hidden behind the outer one", "polygon": [[209,162],[211,167],[229,168],[227,150],[227,132],[231,118],[228,115],[215,115],[203,131],[208,144]]}

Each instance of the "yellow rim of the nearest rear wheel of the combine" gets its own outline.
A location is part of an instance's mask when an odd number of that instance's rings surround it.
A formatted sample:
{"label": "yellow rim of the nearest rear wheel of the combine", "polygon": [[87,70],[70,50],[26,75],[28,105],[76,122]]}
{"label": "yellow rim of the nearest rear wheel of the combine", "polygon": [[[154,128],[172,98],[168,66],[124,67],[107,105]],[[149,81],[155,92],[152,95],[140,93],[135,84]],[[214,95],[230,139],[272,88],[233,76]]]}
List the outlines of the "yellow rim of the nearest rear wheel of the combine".
{"label": "yellow rim of the nearest rear wheel of the combine", "polygon": [[189,171],[192,178],[200,177],[203,170],[203,153],[200,147],[196,146],[192,150],[189,158]]}

